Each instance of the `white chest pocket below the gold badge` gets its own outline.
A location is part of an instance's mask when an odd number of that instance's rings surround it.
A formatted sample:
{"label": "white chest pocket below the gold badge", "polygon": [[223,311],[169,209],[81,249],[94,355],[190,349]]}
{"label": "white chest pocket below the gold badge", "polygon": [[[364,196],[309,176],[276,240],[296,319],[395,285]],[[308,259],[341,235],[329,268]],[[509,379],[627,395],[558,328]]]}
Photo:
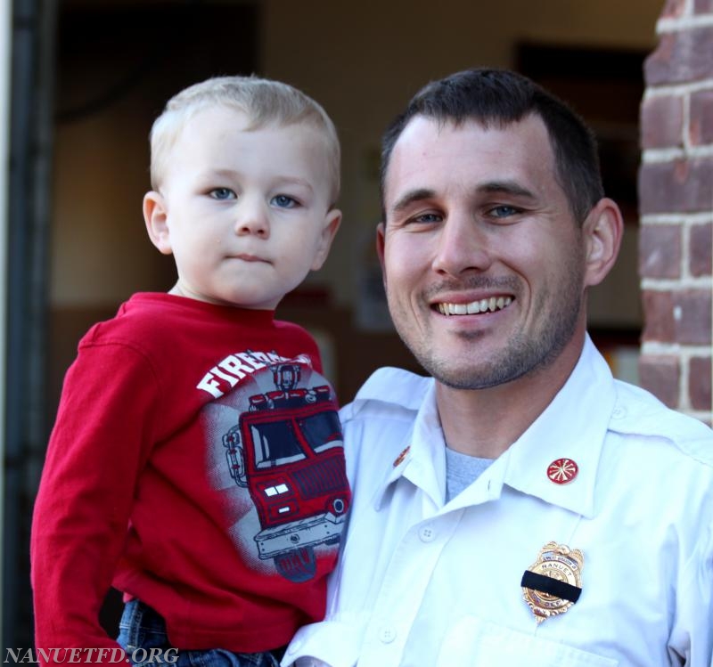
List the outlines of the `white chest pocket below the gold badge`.
{"label": "white chest pocket below the gold badge", "polygon": [[438,653],[437,667],[498,664],[507,667],[617,667],[619,661],[469,616],[447,632]]}

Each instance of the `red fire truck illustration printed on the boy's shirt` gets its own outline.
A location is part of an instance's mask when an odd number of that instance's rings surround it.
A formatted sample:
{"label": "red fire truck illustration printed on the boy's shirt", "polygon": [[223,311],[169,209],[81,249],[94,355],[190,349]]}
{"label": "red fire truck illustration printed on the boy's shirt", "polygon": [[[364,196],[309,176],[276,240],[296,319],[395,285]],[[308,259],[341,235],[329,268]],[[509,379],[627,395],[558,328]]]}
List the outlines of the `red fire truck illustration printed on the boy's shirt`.
{"label": "red fire truck illustration printed on the boy's shirt", "polygon": [[271,370],[275,391],[250,396],[223,445],[231,476],[258,508],[258,557],[305,582],[316,573],[314,548],[338,544],[346,518],[341,427],[329,386],[298,388],[297,363]]}

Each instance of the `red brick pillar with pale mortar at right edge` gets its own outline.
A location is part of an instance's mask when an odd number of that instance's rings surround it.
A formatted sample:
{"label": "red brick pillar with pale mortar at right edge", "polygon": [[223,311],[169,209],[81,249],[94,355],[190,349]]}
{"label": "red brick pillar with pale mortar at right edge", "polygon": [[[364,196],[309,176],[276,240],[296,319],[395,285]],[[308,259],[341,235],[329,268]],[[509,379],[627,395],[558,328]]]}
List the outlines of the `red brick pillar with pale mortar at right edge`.
{"label": "red brick pillar with pale mortar at right edge", "polygon": [[642,386],[711,423],[713,0],[668,0],[645,62]]}

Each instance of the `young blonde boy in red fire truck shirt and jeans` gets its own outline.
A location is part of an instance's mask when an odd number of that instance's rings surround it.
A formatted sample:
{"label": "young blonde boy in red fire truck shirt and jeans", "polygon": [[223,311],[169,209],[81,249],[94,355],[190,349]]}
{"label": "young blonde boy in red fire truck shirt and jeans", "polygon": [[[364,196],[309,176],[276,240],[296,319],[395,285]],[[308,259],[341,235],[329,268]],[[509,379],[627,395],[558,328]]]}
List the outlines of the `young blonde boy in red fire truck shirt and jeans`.
{"label": "young blonde boy in red fire truck shirt and jeans", "polygon": [[[178,280],[90,329],[65,378],[33,517],[37,650],[275,665],[324,615],[349,504],[316,344],[273,319],[340,224],[339,142],[291,86],[217,77],[151,144],[143,216]],[[119,644],[97,618],[110,585]]]}

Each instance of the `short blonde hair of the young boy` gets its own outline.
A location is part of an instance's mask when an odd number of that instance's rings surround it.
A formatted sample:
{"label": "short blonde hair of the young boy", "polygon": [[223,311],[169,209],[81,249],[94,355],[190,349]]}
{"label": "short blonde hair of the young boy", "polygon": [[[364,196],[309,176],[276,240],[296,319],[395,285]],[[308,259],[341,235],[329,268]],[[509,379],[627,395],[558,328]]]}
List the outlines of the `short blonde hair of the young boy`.
{"label": "short blonde hair of the young boy", "polygon": [[326,111],[297,88],[260,77],[213,77],[184,88],[166,103],[151,129],[151,183],[159,190],[171,147],[190,118],[213,106],[231,107],[250,118],[248,129],[271,123],[304,123],[324,134],[332,205],[340,191],[340,141]]}

